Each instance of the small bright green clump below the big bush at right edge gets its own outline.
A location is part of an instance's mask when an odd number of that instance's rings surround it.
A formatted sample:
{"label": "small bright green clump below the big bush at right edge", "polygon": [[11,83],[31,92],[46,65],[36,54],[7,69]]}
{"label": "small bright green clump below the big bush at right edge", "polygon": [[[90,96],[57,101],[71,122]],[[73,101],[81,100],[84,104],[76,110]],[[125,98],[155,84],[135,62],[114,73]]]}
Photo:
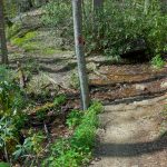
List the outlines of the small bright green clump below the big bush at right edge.
{"label": "small bright green clump below the big bush at right edge", "polygon": [[163,60],[160,55],[157,55],[151,59],[150,63],[155,68],[163,68],[165,66],[165,60]]}

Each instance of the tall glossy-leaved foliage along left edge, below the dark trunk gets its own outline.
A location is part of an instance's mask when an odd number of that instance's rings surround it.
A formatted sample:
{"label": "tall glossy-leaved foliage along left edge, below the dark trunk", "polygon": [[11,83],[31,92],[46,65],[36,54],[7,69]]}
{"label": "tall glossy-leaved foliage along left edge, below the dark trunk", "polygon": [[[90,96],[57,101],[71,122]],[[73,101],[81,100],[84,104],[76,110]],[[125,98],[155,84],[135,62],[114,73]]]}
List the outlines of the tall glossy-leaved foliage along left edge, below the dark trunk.
{"label": "tall glossy-leaved foliage along left edge, below the dark trunk", "polygon": [[19,130],[26,120],[23,92],[13,82],[10,70],[0,67],[0,149],[3,150],[6,159],[19,143]]}

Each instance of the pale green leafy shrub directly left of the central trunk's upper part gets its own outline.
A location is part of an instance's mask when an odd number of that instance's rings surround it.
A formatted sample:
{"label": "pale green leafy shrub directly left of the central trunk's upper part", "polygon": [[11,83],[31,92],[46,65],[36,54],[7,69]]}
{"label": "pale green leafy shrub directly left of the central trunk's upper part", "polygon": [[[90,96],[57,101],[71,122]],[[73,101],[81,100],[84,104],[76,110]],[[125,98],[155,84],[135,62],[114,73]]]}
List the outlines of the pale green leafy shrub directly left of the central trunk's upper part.
{"label": "pale green leafy shrub directly left of the central trunk's upper part", "polygon": [[73,37],[71,1],[51,0],[43,7],[43,10],[46,12],[41,18],[43,24],[53,28],[53,30],[56,27],[56,33],[71,43],[73,40],[71,38]]}

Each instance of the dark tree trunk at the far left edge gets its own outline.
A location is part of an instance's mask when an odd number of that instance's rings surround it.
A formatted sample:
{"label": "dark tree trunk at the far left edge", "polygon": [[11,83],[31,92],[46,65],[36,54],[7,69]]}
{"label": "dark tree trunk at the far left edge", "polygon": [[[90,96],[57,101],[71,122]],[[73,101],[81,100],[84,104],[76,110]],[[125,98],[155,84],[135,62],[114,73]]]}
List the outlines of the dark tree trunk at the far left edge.
{"label": "dark tree trunk at the far left edge", "polygon": [[7,50],[7,39],[4,32],[4,13],[3,13],[3,0],[0,0],[0,46],[2,53],[2,63],[8,63],[8,50]]}

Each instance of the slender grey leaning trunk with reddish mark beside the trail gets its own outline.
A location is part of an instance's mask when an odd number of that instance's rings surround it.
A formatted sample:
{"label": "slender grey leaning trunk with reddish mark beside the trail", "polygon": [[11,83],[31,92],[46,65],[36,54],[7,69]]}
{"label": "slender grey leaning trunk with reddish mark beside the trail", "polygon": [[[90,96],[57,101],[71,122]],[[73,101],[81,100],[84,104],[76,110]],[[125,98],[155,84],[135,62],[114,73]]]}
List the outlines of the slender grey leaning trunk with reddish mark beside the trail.
{"label": "slender grey leaning trunk with reddish mark beside the trail", "polygon": [[78,61],[82,109],[86,110],[89,106],[89,90],[86,72],[86,59],[84,53],[84,38],[81,32],[82,31],[81,0],[72,0],[72,11],[73,11],[75,45]]}

